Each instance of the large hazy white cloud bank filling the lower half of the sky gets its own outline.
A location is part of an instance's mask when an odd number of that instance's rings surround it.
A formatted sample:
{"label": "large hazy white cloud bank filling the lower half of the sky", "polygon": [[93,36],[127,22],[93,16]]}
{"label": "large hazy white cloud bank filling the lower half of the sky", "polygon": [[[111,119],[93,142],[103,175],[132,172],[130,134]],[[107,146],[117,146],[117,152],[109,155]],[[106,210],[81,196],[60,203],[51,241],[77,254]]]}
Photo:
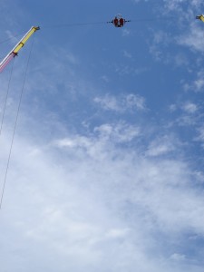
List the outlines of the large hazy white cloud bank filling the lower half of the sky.
{"label": "large hazy white cloud bank filling the lower half of the sky", "polygon": [[[20,260],[30,248],[35,252],[29,256],[30,264],[41,263],[43,254],[47,269],[63,265],[71,271],[86,267],[100,271],[104,258],[102,271],[136,265],[143,271],[149,271],[149,265],[155,272],[163,267],[175,271],[170,268],[172,259],[180,271],[185,259],[190,261],[186,238],[177,249],[172,244],[183,232],[204,233],[201,192],[191,185],[187,163],[176,158],[150,160],[137,147],[131,151],[114,147],[117,141],[138,137],[132,129],[124,125],[122,132],[119,126],[103,124],[90,137],[68,133],[45,149],[29,139],[15,139],[2,210],[7,239],[1,240],[4,252],[18,248],[13,258],[16,269],[28,267]],[[159,142],[151,144],[150,155],[153,150],[156,155]],[[98,152],[87,156],[96,146]],[[13,231],[12,246],[8,237]],[[3,268],[7,265],[4,261]]]}

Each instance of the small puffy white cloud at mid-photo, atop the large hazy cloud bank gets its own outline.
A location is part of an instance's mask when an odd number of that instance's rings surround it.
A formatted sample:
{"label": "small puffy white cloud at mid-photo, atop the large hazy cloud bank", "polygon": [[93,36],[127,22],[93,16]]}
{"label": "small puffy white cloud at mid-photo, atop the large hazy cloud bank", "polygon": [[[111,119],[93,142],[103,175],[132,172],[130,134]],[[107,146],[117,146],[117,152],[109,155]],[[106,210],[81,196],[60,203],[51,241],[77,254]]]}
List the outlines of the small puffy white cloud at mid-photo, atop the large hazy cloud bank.
{"label": "small puffy white cloud at mid-photo, atop the large hazy cloud bank", "polygon": [[105,146],[109,146],[110,152],[112,145],[110,142],[128,143],[138,138],[141,130],[138,126],[130,125],[125,122],[104,123],[95,127],[91,135],[80,136],[73,135],[64,139],[53,141],[52,145],[60,149],[67,150],[70,154],[75,151],[87,154],[88,157],[95,160],[104,160],[109,156],[109,152],[104,152]]}

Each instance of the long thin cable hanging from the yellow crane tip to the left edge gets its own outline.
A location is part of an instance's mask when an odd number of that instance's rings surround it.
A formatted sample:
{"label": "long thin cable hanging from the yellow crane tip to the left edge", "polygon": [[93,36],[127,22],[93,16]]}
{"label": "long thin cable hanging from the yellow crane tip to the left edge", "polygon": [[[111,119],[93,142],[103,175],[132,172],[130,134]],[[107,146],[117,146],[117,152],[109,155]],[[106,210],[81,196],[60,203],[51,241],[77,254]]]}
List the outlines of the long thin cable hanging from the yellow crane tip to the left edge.
{"label": "long thin cable hanging from the yellow crane tip to the left edge", "polygon": [[2,194],[1,194],[1,200],[0,200],[0,210],[2,209],[2,203],[3,203],[3,199],[4,199],[4,195],[5,195],[5,183],[6,183],[6,179],[7,179],[7,173],[8,173],[8,169],[9,169],[9,163],[10,163],[10,160],[11,160],[11,154],[12,154],[12,149],[13,149],[14,140],[15,140],[15,131],[16,131],[18,116],[19,116],[19,112],[20,112],[20,108],[21,108],[21,102],[22,102],[23,93],[24,93],[24,85],[25,85],[25,81],[26,81],[26,77],[27,77],[28,65],[30,63],[30,58],[31,58],[31,53],[32,53],[33,45],[34,45],[34,38],[33,38],[32,44],[31,44],[31,49],[30,49],[30,52],[29,52],[29,55],[28,55],[28,60],[27,60],[26,67],[25,67],[24,81],[23,81],[23,85],[22,85],[22,89],[21,89],[20,100],[19,100],[19,103],[18,103],[17,112],[16,112],[15,128],[14,128],[14,131],[13,131],[13,136],[12,136],[12,141],[11,141],[9,156],[8,156],[8,160],[7,160],[6,170],[5,170],[5,180],[4,180],[4,185],[3,185]]}

